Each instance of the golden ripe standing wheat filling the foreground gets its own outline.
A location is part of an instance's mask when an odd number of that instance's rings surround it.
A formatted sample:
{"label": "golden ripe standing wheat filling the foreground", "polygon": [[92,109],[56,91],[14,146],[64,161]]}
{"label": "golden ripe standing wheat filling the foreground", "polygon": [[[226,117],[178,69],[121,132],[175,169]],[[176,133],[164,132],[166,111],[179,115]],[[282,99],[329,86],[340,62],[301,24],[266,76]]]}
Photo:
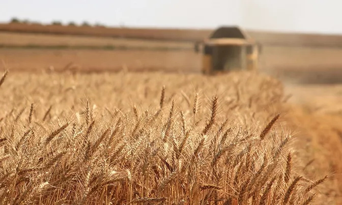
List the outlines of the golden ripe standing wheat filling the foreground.
{"label": "golden ripe standing wheat filling the foreground", "polygon": [[15,73],[0,81],[2,204],[311,204],[268,76]]}

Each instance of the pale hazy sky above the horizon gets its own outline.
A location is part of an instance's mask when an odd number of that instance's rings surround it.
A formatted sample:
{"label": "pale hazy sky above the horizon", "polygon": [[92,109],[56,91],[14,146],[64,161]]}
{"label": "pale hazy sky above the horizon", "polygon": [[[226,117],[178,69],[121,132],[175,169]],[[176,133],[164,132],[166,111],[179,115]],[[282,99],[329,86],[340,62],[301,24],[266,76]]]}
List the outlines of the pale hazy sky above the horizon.
{"label": "pale hazy sky above the horizon", "polygon": [[0,21],[12,17],[108,26],[216,28],[342,34],[338,0],[0,0]]}

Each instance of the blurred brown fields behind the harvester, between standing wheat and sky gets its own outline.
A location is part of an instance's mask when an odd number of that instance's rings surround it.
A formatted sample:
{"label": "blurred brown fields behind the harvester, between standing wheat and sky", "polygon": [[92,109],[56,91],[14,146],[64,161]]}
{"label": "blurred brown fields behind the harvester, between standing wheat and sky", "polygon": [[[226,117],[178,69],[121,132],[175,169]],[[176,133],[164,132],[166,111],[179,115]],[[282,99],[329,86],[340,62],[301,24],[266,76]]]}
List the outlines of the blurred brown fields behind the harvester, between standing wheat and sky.
{"label": "blurred brown fields behind the harvester, between standing wheat and sky", "polygon": [[[72,33],[75,30],[72,26],[48,26],[38,25],[38,29],[25,24],[0,25],[0,58],[13,70],[52,67],[63,70],[73,64],[87,72],[121,69],[200,72],[202,55],[194,51],[194,44],[212,32],[76,27],[79,30],[76,35]],[[59,33],[60,30],[63,32]],[[107,30],[110,35],[104,35]],[[340,81],[341,37],[247,33],[262,45],[260,71],[302,82]]]}

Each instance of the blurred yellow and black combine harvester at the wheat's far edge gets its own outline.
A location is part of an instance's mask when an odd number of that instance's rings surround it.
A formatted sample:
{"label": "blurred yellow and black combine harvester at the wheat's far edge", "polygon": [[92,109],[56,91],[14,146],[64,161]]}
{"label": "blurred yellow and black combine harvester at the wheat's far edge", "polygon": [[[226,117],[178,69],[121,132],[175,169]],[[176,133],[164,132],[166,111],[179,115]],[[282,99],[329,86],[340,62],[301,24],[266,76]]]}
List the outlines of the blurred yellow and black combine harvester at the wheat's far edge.
{"label": "blurred yellow and black combine harvester at the wheat's far edge", "polygon": [[195,52],[203,54],[204,74],[256,70],[259,49],[260,46],[237,26],[220,27],[194,47]]}

